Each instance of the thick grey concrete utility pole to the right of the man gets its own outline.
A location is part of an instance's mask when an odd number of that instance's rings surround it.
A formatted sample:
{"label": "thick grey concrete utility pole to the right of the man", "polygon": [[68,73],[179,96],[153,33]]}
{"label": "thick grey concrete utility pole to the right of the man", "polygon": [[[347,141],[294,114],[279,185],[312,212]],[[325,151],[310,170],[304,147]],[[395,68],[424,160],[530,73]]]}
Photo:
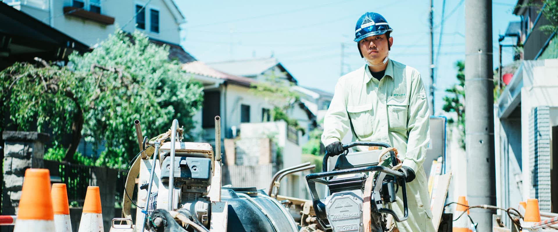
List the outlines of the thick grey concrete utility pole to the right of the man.
{"label": "thick grey concrete utility pole to the right of the man", "polygon": [[[492,1],[465,1],[465,146],[469,205],[496,205]],[[475,211],[478,231],[492,230],[492,210]]]}

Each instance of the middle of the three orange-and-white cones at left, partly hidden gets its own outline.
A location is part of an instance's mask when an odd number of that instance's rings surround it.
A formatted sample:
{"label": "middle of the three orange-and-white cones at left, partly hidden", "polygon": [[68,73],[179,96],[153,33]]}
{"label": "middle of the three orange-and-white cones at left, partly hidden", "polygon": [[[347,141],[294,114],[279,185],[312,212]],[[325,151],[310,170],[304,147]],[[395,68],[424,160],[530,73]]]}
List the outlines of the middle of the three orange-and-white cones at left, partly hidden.
{"label": "middle of the three orange-and-white cones at left, partly hidden", "polygon": [[70,208],[66,184],[52,184],[52,209],[56,232],[71,232]]}

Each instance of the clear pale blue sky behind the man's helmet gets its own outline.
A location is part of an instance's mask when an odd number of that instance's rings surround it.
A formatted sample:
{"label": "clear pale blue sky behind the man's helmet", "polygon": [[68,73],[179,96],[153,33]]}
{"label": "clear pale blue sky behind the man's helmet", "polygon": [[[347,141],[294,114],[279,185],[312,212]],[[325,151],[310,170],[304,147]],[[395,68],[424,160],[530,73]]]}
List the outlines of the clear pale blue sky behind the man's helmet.
{"label": "clear pale blue sky behind the man's helmet", "polygon": [[[354,26],[364,12],[378,12],[394,29],[390,58],[415,67],[426,85],[430,85],[430,1],[175,2],[187,21],[182,26],[182,46],[198,60],[216,62],[274,56],[301,86],[330,92],[341,73],[364,64],[353,42]],[[437,113],[441,111],[444,90],[456,82],[455,62],[465,59],[465,1],[446,0],[439,43],[442,3],[443,0],[434,0]],[[516,3],[517,0],[493,1],[494,67],[498,62],[498,33],[505,32],[510,21],[519,21],[512,14]],[[509,44],[511,39],[503,43]],[[341,57],[345,64],[343,70]],[[504,48],[504,65],[511,61],[512,48]]]}

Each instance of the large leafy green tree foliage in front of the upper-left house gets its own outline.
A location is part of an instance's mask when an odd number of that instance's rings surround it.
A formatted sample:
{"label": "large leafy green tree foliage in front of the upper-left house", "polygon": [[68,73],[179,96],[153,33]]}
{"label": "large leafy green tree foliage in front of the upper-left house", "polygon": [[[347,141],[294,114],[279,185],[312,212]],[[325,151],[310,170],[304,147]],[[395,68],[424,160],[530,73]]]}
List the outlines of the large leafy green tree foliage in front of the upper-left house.
{"label": "large leafy green tree foliage in front of the upper-left house", "polygon": [[20,130],[36,120],[38,130],[52,130],[55,141],[70,133],[62,160],[74,160],[83,136],[106,142],[97,165],[122,166],[138,152],[135,119],[145,135],[166,131],[178,119],[186,140],[193,136],[203,88],[168,56],[169,47],[118,29],[92,52],[70,55],[68,66],[16,63],[0,72],[0,106],[9,107]]}

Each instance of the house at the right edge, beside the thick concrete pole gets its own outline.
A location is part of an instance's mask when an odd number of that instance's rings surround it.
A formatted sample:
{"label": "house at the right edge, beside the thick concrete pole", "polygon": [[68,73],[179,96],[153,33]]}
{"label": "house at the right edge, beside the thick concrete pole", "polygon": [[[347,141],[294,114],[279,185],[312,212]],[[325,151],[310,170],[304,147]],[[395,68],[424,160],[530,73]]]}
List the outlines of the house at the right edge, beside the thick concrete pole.
{"label": "house at the right edge, beside the thick concrete pole", "polygon": [[497,203],[516,207],[536,198],[541,211],[558,213],[557,36],[540,30],[549,21],[525,2],[513,11],[522,16],[518,40],[525,60],[494,107]]}

